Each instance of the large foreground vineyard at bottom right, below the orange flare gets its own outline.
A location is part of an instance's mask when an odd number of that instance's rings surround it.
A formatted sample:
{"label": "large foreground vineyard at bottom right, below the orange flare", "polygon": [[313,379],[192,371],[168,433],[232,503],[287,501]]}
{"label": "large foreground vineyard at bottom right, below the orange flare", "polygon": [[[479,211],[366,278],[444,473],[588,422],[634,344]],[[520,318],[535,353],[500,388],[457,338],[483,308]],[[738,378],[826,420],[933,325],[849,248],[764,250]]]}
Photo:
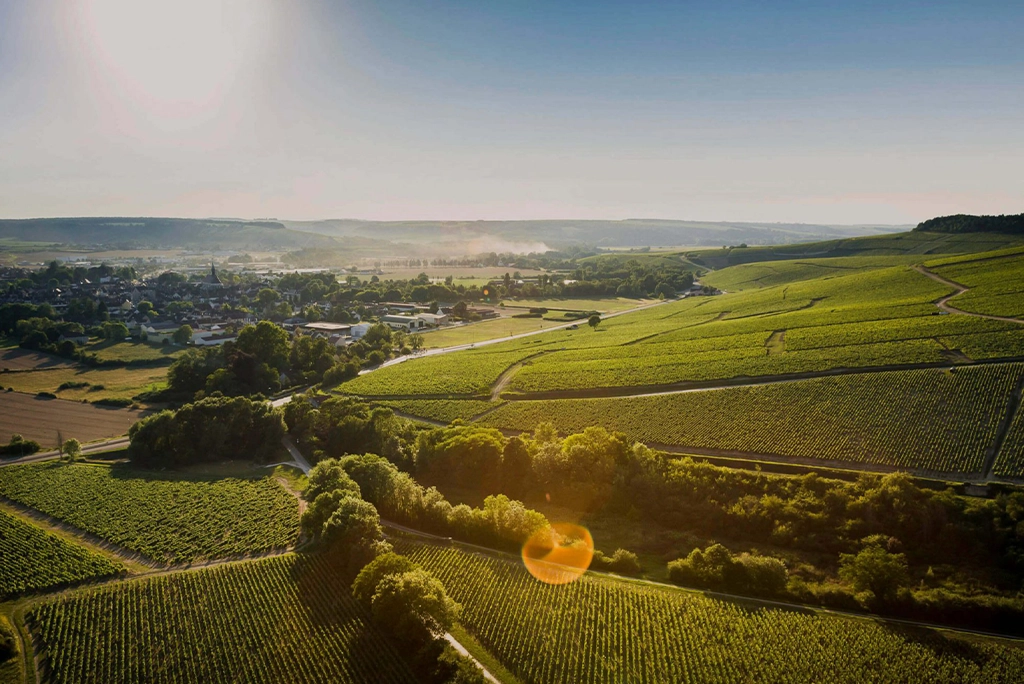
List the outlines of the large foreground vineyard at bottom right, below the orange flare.
{"label": "large foreground vineyard at bottom right, below the orange flare", "polygon": [[810,610],[713,599],[412,542],[399,550],[463,604],[463,625],[523,681],[1016,682],[1024,650]]}

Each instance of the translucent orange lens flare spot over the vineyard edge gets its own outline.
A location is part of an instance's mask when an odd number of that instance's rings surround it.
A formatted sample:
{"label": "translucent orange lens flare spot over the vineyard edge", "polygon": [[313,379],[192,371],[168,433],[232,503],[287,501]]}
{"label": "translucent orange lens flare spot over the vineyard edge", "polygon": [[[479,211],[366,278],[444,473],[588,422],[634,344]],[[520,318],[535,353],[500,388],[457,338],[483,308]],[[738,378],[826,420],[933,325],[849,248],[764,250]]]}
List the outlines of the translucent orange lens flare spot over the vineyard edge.
{"label": "translucent orange lens flare spot over the vineyard edge", "polygon": [[594,558],[594,538],[586,527],[555,522],[534,532],[522,547],[529,573],[549,585],[567,585],[583,576]]}

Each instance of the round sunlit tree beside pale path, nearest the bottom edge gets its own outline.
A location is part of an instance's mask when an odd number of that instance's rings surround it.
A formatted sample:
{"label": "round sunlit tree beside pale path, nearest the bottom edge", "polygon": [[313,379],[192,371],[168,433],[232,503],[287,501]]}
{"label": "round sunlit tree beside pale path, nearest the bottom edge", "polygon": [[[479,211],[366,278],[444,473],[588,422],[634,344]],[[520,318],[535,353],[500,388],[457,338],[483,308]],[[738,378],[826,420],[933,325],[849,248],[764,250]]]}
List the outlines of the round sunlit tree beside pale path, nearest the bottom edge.
{"label": "round sunlit tree beside pale path, nearest the bottom edge", "polygon": [[426,643],[452,629],[461,612],[436,578],[415,569],[385,575],[377,585],[371,612],[401,640]]}

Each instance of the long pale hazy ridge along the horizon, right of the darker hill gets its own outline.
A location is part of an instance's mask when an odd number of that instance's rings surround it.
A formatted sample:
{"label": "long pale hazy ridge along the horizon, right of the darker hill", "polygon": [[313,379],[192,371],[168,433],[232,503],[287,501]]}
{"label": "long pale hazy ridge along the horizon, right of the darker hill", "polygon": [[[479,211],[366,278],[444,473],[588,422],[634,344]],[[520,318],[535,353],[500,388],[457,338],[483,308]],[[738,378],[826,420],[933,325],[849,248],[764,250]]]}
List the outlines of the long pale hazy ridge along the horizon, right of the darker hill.
{"label": "long pale hazy ridge along the horizon, right of the darker hill", "polygon": [[469,252],[542,251],[568,245],[593,247],[698,247],[786,245],[907,230],[893,225],[815,225],[663,219],[534,221],[283,221],[296,230],[366,237],[432,246],[470,246]]}

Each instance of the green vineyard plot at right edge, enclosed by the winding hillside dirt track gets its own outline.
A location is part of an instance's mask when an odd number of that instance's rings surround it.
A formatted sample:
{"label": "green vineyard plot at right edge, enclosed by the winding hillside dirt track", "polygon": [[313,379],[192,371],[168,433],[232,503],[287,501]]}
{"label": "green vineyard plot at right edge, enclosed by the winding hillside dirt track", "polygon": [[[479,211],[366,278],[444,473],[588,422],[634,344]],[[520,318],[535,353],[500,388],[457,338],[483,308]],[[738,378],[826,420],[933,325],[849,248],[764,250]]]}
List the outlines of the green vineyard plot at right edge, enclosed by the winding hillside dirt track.
{"label": "green vineyard plot at right edge, enclosed by the winding hillside dirt track", "polygon": [[965,311],[1024,316],[1024,254],[978,258],[932,268],[945,279],[971,288],[949,304]]}

